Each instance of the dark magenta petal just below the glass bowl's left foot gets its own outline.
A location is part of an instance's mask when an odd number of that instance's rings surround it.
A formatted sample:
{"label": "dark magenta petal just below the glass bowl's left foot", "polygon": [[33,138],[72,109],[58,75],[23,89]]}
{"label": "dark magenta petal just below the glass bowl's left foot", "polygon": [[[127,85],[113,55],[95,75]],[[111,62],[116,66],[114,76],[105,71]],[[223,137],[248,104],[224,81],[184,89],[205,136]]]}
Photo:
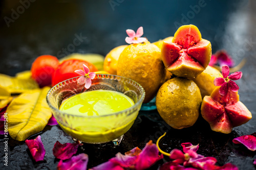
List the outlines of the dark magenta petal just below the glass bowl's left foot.
{"label": "dark magenta petal just below the glass bowl's left foot", "polygon": [[83,145],[82,143],[64,143],[61,144],[57,141],[53,147],[53,155],[61,160],[66,160],[71,158],[77,152],[78,146]]}

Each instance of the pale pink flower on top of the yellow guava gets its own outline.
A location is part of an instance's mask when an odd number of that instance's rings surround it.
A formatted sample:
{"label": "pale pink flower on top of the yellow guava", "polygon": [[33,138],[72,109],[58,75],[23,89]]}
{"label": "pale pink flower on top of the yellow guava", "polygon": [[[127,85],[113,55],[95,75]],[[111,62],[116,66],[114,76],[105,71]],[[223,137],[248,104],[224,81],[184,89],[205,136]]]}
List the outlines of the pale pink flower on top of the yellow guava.
{"label": "pale pink flower on top of the yellow guava", "polygon": [[129,37],[125,38],[125,41],[129,44],[137,44],[141,42],[145,42],[147,39],[141,37],[143,35],[143,27],[138,28],[137,32],[127,29],[126,33]]}

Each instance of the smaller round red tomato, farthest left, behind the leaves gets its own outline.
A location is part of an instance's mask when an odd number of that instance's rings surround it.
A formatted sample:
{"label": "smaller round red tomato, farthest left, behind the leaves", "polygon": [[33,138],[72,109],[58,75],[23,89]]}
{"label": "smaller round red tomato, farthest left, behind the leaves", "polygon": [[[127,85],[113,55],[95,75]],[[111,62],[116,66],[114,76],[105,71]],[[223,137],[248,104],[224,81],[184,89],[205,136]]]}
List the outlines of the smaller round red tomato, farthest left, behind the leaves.
{"label": "smaller round red tomato, farthest left, behind the leaves", "polygon": [[52,75],[59,65],[59,60],[50,55],[39,56],[31,66],[32,79],[40,87],[50,86],[52,84]]}

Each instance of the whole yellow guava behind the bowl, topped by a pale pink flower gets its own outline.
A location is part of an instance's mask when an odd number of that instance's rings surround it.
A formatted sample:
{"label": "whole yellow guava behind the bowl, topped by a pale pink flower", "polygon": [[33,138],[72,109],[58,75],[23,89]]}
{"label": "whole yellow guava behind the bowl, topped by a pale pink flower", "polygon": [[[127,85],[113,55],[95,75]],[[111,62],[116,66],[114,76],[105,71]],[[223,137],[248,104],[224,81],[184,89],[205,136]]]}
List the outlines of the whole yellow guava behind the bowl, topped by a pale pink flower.
{"label": "whole yellow guava behind the bowl, topped by a pale pink flower", "polygon": [[150,42],[131,44],[124,48],[117,64],[117,75],[138,82],[145,90],[145,100],[150,102],[165,81],[166,70],[160,49]]}

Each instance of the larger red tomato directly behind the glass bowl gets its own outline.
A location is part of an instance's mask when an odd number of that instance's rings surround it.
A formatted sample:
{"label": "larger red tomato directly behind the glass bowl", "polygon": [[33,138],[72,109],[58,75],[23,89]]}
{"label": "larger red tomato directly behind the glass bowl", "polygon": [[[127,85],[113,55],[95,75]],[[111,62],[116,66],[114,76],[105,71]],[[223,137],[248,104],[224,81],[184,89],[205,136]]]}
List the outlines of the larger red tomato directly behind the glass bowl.
{"label": "larger red tomato directly behind the glass bowl", "polygon": [[75,73],[75,70],[83,70],[82,64],[86,64],[86,66],[88,66],[88,68],[90,69],[90,72],[98,71],[97,67],[88,61],[79,59],[68,59],[63,61],[55,70],[52,77],[52,86],[64,80],[79,76]]}

